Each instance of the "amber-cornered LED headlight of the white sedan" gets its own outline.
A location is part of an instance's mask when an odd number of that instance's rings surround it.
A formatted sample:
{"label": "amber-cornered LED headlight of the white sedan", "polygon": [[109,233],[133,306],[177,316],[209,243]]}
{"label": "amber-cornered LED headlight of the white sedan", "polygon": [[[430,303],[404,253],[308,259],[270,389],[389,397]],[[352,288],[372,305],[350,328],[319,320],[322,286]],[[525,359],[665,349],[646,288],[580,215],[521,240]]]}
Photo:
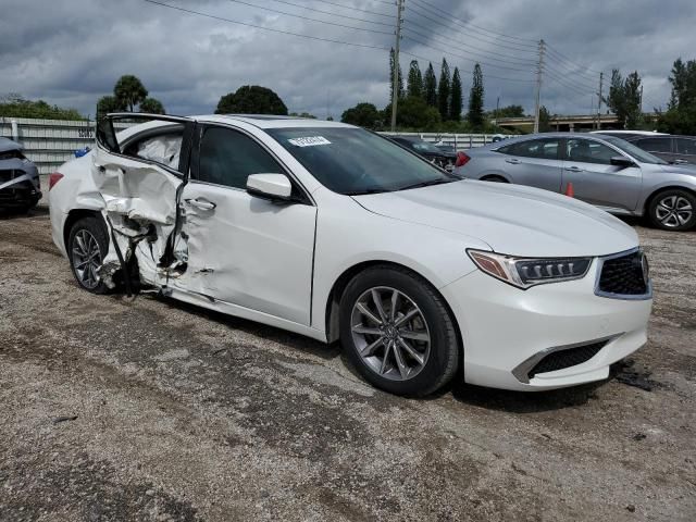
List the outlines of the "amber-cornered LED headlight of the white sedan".
{"label": "amber-cornered LED headlight of the white sedan", "polygon": [[482,250],[467,250],[486,274],[518,288],[584,277],[593,258],[515,258]]}

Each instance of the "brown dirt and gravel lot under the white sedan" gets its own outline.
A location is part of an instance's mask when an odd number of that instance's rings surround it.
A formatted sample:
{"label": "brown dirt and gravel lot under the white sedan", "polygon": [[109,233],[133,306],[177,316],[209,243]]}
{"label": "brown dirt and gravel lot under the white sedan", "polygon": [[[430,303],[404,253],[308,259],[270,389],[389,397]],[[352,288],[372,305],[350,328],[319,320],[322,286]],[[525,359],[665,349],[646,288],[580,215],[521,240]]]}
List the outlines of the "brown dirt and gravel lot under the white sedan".
{"label": "brown dirt and gravel lot under the white sedan", "polygon": [[337,347],[91,296],[0,219],[0,520],[696,520],[696,233],[638,227],[647,347],[593,386],[406,400]]}

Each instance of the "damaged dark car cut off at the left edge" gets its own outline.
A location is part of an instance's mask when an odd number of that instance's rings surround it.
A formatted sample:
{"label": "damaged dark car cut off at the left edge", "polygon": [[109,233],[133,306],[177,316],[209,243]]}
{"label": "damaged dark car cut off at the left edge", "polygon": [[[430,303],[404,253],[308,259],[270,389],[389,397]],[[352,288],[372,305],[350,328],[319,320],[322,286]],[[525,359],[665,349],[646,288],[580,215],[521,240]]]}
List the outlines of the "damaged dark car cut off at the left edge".
{"label": "damaged dark car cut off at the left edge", "polygon": [[39,172],[23,147],[0,138],[0,209],[30,209],[41,199]]}

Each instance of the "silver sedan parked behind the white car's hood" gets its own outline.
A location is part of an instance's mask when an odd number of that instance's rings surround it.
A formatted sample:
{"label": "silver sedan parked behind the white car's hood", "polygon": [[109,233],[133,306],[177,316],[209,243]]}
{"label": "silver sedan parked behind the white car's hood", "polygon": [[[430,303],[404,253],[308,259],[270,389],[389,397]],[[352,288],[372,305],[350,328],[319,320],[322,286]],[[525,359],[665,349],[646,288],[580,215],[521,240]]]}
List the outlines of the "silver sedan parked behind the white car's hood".
{"label": "silver sedan parked behind the white car's hood", "polygon": [[[459,162],[461,163],[461,162]],[[567,192],[668,231],[696,226],[696,166],[672,165],[600,134],[537,134],[465,152],[459,176]]]}

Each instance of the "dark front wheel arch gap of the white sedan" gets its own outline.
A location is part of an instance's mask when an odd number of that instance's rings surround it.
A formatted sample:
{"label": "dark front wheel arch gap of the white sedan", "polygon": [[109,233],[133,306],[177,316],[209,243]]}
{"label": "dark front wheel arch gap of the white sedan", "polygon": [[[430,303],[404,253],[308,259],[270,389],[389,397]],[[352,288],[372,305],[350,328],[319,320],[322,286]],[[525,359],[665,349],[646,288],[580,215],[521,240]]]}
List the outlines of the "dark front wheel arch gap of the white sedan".
{"label": "dark front wheel arch gap of the white sedan", "polygon": [[326,300],[326,308],[325,308],[326,341],[335,343],[336,340],[338,340],[339,332],[340,332],[339,303],[344,295],[344,291],[348,286],[348,283],[361,272],[364,272],[365,270],[373,266],[395,268],[395,269],[410,272],[419,279],[422,279],[423,282],[428,284],[433,288],[433,290],[437,293],[443,303],[445,304],[447,311],[449,312],[449,316],[455,325],[455,332],[457,334],[457,343],[459,345],[459,350],[461,356],[460,361],[463,362],[463,339],[462,339],[461,330],[459,326],[459,321],[457,320],[457,316],[455,315],[452,308],[449,306],[449,302],[447,302],[447,299],[445,298],[445,296],[443,296],[443,294],[437,289],[435,285],[433,285],[433,283],[431,283],[427,279],[427,277],[424,277],[422,274],[411,269],[410,266],[407,266],[405,264],[397,263],[394,261],[384,261],[384,260],[363,261],[346,269],[338,276],[338,278],[334,282],[334,285],[332,286],[331,291],[328,293],[328,298]]}

